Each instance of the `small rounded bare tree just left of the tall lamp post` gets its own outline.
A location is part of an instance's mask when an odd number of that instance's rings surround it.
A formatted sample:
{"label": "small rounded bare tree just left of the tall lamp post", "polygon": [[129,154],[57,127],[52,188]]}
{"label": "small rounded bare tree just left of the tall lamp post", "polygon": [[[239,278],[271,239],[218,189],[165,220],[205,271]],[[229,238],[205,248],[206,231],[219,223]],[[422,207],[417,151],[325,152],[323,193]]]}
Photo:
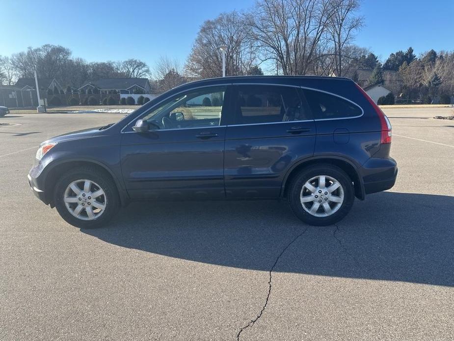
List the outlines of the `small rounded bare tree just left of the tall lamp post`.
{"label": "small rounded bare tree just left of the tall lamp post", "polygon": [[158,91],[167,91],[186,82],[182,76],[183,67],[176,59],[167,56],[160,57],[153,71],[159,84]]}

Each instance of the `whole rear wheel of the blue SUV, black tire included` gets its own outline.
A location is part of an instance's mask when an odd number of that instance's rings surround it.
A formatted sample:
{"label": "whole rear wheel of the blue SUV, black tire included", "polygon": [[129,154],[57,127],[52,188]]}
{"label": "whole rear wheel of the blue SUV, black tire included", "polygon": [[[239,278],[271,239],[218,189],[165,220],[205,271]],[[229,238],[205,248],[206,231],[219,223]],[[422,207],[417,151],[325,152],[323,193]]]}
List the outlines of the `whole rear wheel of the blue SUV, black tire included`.
{"label": "whole rear wheel of the blue SUV, black tire included", "polygon": [[[324,187],[319,186],[323,185],[322,178]],[[333,187],[330,189],[330,186]],[[342,202],[339,202],[340,198],[343,198]],[[350,211],[354,199],[354,187],[350,177],[344,170],[329,164],[301,170],[292,180],[288,192],[294,214],[304,223],[313,226],[327,226],[339,222]]]}

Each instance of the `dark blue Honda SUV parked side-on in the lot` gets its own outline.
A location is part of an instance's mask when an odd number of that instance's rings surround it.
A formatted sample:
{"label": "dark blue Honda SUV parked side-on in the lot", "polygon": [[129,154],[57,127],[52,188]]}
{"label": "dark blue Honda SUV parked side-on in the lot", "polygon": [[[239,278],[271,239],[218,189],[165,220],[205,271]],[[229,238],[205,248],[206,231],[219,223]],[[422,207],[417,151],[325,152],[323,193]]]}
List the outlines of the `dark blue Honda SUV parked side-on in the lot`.
{"label": "dark blue Honda SUV parked side-on in the lot", "polygon": [[28,180],[77,227],[105,224],[131,200],[281,198],[323,226],[393,187],[390,147],[388,118],[350,79],[226,77],[41,143]]}

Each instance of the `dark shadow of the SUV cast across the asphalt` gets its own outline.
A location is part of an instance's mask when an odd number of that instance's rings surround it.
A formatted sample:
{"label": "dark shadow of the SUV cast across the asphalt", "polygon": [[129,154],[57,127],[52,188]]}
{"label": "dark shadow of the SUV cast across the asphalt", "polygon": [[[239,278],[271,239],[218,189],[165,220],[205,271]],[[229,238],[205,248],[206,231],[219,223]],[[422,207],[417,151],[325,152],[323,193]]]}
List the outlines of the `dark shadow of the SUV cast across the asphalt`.
{"label": "dark shadow of the SUV cast across the asphalt", "polygon": [[125,248],[264,271],[288,247],[274,271],[454,286],[452,207],[454,197],[383,192],[356,202],[335,226],[309,227],[276,201],[148,202],[123,209],[109,227],[81,231]]}

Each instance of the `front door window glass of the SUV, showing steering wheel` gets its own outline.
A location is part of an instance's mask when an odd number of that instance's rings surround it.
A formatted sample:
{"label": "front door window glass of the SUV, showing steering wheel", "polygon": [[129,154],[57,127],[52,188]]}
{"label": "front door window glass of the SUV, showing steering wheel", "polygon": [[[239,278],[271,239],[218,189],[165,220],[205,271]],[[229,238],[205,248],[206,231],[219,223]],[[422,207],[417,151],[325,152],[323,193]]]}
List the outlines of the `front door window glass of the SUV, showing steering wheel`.
{"label": "front door window glass of the SUV, showing steering wheel", "polygon": [[156,129],[219,126],[225,86],[188,90],[164,101],[142,119]]}

